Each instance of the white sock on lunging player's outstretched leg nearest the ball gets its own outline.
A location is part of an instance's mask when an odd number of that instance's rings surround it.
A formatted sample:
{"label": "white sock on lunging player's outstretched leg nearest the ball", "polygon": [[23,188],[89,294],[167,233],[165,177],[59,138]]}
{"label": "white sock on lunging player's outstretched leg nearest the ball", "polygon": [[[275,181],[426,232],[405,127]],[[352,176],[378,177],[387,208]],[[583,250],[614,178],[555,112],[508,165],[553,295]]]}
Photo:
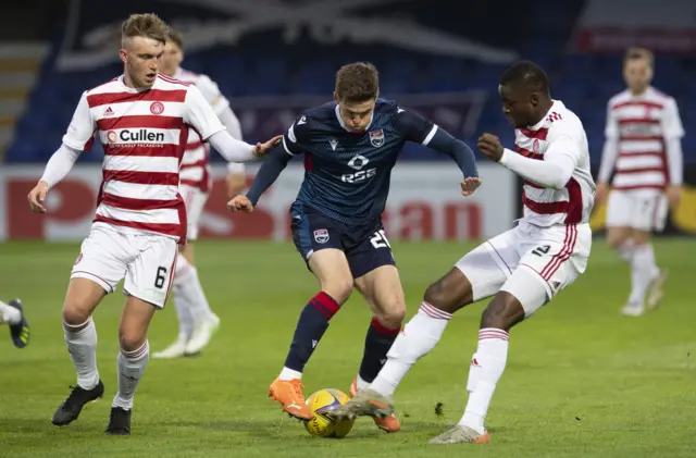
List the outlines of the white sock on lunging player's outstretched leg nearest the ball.
{"label": "white sock on lunging player's outstretched leg nearest the ball", "polygon": [[387,352],[387,362],[370,388],[383,396],[393,396],[411,366],[435,348],[450,318],[451,313],[423,301],[415,317],[394,341]]}

